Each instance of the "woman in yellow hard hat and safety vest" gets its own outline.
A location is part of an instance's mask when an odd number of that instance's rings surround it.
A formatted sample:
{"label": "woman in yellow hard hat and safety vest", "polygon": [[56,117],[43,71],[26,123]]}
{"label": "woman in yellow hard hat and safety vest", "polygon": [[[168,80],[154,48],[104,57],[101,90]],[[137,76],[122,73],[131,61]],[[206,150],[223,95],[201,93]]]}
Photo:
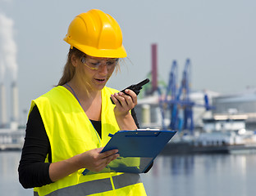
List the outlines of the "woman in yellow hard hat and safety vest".
{"label": "woman in yellow hard hat and safety vest", "polygon": [[81,174],[101,171],[119,156],[117,149],[100,154],[109,133],[137,128],[130,113],[135,92],[105,87],[126,57],[117,21],[90,10],[71,21],[64,40],[71,48],[58,86],[31,104],[21,185],[36,187],[34,195],[146,195],[137,174]]}

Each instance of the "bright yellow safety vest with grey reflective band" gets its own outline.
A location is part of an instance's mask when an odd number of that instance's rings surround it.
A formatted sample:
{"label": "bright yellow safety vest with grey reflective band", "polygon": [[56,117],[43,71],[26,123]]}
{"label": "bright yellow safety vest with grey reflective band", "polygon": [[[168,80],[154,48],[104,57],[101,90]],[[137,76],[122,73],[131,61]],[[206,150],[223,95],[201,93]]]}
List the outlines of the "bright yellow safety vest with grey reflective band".
{"label": "bright yellow safety vest with grey reflective band", "polygon": [[[110,140],[108,134],[119,131],[113,112],[115,105],[110,100],[114,92],[117,90],[108,87],[102,90],[102,139],[79,102],[65,87],[54,87],[32,101],[30,111],[34,105],[39,108],[53,163],[104,146]],[[82,171],[84,169],[52,184],[34,188],[34,195],[146,195],[139,174],[107,172],[83,176]]]}

